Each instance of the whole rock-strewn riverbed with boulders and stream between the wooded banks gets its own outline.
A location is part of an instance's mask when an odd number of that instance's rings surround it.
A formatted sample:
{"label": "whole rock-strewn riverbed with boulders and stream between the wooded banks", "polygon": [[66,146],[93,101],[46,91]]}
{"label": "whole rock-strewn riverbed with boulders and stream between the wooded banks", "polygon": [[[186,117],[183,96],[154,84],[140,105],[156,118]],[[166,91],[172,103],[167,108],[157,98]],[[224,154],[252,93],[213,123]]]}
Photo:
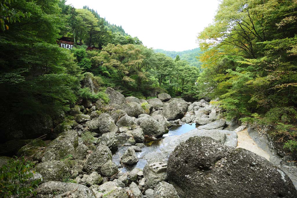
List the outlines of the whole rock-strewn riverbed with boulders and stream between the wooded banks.
{"label": "whole rock-strewn riverbed with boulders and stream between the wooded banks", "polygon": [[110,104],[75,106],[75,120],[58,125],[53,141],[18,152],[37,164],[38,197],[296,197],[296,166],[255,131],[226,122],[219,107],[165,93],[147,101],[106,93]]}

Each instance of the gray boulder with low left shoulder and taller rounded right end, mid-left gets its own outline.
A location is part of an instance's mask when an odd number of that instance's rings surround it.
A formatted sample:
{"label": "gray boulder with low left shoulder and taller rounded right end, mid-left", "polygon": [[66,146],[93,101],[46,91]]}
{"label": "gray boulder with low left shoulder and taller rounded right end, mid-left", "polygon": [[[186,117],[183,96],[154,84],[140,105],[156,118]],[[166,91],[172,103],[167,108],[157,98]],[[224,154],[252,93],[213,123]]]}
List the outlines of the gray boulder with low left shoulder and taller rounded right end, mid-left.
{"label": "gray boulder with low left shoulder and taller rounded right end, mid-left", "polygon": [[98,118],[87,121],[84,126],[89,129],[89,131],[96,133],[115,133],[118,130],[113,118],[106,113],[101,113]]}

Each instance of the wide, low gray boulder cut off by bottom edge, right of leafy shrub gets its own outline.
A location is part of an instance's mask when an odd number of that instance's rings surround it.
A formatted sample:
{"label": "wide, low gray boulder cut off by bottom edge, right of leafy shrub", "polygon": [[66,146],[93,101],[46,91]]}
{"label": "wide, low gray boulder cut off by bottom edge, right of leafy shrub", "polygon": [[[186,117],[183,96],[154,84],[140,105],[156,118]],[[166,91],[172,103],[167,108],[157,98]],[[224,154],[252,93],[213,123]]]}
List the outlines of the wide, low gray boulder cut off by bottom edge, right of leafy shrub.
{"label": "wide, low gray boulder cut off by bottom edge, right of leafy shrub", "polygon": [[95,193],[88,187],[77,183],[64,183],[58,181],[49,181],[38,186],[37,197],[52,198],[61,195],[61,197],[88,197],[96,198]]}

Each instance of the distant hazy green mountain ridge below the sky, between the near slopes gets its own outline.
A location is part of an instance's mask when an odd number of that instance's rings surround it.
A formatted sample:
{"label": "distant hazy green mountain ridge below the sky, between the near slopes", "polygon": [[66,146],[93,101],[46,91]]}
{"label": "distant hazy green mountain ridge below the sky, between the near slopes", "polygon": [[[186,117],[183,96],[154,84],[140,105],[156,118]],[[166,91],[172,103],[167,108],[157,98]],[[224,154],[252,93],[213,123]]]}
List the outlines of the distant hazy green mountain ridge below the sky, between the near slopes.
{"label": "distant hazy green mountain ridge below the sky, between the near slopes", "polygon": [[199,56],[202,52],[199,47],[192,49],[192,50],[184,50],[181,52],[176,52],[176,51],[166,51],[162,49],[154,49],[156,53],[163,53],[166,56],[169,56],[171,58],[175,58],[176,55],[180,57],[181,60],[186,60],[190,63],[191,66],[195,66],[200,68],[202,63],[199,61],[196,56]]}

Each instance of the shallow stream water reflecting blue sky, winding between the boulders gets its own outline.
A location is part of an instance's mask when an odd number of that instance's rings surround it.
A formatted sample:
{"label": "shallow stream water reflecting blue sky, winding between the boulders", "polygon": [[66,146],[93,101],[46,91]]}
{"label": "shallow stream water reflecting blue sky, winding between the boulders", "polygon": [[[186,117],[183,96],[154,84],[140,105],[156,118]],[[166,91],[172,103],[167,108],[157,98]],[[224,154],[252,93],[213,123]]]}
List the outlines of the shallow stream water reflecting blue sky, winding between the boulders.
{"label": "shallow stream water reflecting blue sky, winding between the boulders", "polygon": [[[173,136],[173,135],[181,135],[184,133],[187,133],[193,129],[195,129],[196,126],[195,124],[183,124],[181,126],[179,125],[173,125],[170,127],[169,132],[164,134],[162,138],[159,138],[156,141],[151,141],[151,140],[144,140],[144,144],[146,145],[146,147],[141,148],[141,152],[136,152],[136,155],[138,157],[138,162],[137,164],[134,165],[123,165],[121,169],[122,172],[127,172],[127,171],[131,171],[133,168],[140,168],[143,169],[143,167],[146,165],[146,160],[143,159],[143,156],[145,156],[147,153],[151,153],[154,151],[158,151],[160,149],[160,145],[162,143],[162,140],[164,139],[164,137],[168,137],[168,136]],[[112,161],[116,164],[116,165],[120,165],[120,156],[123,156],[124,152],[128,149],[129,147],[127,146],[120,146],[118,148],[118,150],[113,153],[112,156]]]}

